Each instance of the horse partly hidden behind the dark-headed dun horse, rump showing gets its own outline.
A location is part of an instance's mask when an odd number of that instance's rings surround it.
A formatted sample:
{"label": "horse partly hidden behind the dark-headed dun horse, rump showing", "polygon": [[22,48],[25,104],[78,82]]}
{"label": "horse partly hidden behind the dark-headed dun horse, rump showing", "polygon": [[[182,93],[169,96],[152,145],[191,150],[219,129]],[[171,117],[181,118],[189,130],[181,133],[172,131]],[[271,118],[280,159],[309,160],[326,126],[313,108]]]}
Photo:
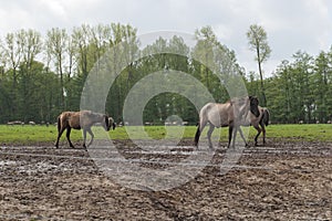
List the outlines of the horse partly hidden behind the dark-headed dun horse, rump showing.
{"label": "horse partly hidden behind the dark-headed dun horse, rump showing", "polygon": [[247,115],[247,118],[241,122],[241,126],[253,126],[257,130],[257,135],[255,137],[255,146],[258,146],[258,137],[260,133],[263,133],[263,145],[266,144],[266,126],[269,125],[270,120],[270,112],[266,107],[258,106],[259,116],[255,116],[252,113]]}

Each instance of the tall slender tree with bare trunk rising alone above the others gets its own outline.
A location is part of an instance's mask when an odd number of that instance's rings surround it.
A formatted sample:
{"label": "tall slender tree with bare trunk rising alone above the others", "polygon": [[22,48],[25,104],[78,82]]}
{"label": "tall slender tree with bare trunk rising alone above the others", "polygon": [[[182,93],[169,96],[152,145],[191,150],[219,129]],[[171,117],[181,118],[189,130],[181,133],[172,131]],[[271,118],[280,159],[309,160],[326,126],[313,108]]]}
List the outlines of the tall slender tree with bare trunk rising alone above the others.
{"label": "tall slender tree with bare trunk rising alone above the others", "polygon": [[266,90],[263,85],[263,74],[261,64],[267,61],[271,54],[271,49],[268,44],[267,32],[258,24],[252,24],[247,32],[250,50],[256,51],[256,61],[258,62],[258,71],[260,75],[260,85],[262,91],[262,105],[267,105]]}

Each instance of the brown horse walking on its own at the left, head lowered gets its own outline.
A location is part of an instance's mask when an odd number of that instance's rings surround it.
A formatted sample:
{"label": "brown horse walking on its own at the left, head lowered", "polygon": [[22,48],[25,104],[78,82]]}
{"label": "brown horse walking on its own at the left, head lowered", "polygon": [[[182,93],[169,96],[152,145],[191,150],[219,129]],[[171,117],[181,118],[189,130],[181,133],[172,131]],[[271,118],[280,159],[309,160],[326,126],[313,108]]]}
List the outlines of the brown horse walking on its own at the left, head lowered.
{"label": "brown horse walking on its own at the left, head lowered", "polygon": [[91,130],[91,127],[94,124],[101,124],[106,131],[110,130],[111,126],[115,129],[115,124],[112,117],[108,117],[104,114],[93,113],[91,110],[81,110],[81,112],[63,112],[58,117],[58,139],[55,143],[55,147],[59,148],[59,139],[62,133],[66,129],[66,139],[72,148],[74,145],[70,139],[71,130],[73,129],[83,129],[83,147],[86,148],[86,131],[91,135],[91,141],[87,146],[90,146],[93,141],[94,135]]}

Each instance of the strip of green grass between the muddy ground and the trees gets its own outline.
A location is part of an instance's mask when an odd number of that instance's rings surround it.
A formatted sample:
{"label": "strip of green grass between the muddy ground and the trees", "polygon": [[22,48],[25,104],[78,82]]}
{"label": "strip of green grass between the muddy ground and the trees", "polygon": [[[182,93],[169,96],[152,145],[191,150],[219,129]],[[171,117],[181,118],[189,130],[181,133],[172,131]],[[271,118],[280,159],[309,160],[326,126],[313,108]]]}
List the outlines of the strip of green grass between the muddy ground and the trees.
{"label": "strip of green grass between the muddy ground and the trees", "polygon": [[[108,134],[101,127],[93,127],[96,138],[112,139],[176,139],[179,137],[194,139],[195,126],[147,126],[147,127],[117,127]],[[128,131],[128,133],[127,133]],[[207,128],[203,136],[206,136]],[[216,129],[214,136],[221,133],[221,140],[227,140],[228,129]],[[256,135],[255,128],[250,127],[249,138]],[[33,145],[42,143],[54,143],[58,136],[56,127],[46,126],[7,126],[0,125],[0,145]],[[82,140],[82,130],[72,130],[73,141]],[[312,125],[269,125],[267,127],[267,138],[288,139],[294,141],[332,141],[332,125],[312,124]],[[61,140],[65,139],[65,133]]]}

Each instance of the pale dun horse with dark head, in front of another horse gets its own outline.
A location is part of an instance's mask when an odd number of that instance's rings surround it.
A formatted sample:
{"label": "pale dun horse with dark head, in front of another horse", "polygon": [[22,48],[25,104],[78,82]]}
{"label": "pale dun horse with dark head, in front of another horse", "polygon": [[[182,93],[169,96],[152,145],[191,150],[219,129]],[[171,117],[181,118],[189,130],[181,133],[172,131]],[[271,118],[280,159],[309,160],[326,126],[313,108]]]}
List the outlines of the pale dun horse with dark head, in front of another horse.
{"label": "pale dun horse with dark head, in front of another horse", "polygon": [[[234,147],[238,129],[242,136],[240,123],[242,119],[247,118],[249,112],[257,117],[259,116],[257,97],[247,96],[243,98],[234,98],[225,104],[206,104],[199,112],[199,124],[195,135],[195,145],[198,146],[199,136],[207,123],[209,123],[209,130],[207,133],[209,147],[212,148],[211,134],[215,127],[229,127],[228,147],[230,147],[231,139]],[[242,139],[246,143],[243,136]]]}

